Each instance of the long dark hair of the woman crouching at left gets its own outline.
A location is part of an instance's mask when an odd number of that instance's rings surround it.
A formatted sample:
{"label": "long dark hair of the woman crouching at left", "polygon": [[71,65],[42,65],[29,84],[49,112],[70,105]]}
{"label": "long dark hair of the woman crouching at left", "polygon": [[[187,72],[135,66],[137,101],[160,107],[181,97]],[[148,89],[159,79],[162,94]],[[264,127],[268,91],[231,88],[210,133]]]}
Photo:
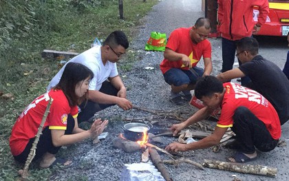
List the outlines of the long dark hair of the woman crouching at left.
{"label": "long dark hair of the woman crouching at left", "polygon": [[85,81],[86,78],[89,78],[90,80],[94,78],[92,70],[81,63],[67,63],[61,76],[61,80],[54,89],[61,89],[63,91],[68,100],[69,106],[78,105],[87,98],[88,92],[85,96],[79,98],[75,94],[75,87],[77,83]]}

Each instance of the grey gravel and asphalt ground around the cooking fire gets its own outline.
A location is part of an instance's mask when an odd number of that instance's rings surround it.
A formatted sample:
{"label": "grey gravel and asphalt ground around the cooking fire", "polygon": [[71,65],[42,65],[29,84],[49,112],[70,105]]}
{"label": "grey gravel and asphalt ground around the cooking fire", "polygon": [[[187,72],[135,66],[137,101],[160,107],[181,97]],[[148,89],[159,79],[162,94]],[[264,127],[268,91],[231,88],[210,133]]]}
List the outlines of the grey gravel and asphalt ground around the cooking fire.
{"label": "grey gravel and asphalt ground around the cooking fire", "polygon": [[[168,114],[179,114],[183,118],[189,118],[197,109],[186,105],[184,107],[173,105],[169,102],[170,88],[164,82],[159,64],[162,61],[162,52],[146,52],[144,44],[149,39],[151,31],[165,32],[169,36],[170,32],[178,27],[189,27],[195,23],[198,17],[204,17],[201,10],[201,1],[198,0],[165,0],[160,1],[153,10],[145,17],[143,24],[138,27],[138,35],[131,42],[130,50],[136,53],[136,63],[130,72],[120,72],[122,80],[127,86],[127,97],[133,105],[147,109],[167,111]],[[210,39],[212,43],[213,75],[219,74],[222,66],[222,48],[220,39]],[[280,44],[280,43],[279,43]],[[286,43],[284,43],[286,45]],[[281,43],[281,45],[283,45]],[[284,47],[285,47],[284,45]],[[260,46],[261,47],[261,46]],[[272,52],[270,52],[272,51]],[[277,65],[280,67],[285,63],[286,48],[276,45],[262,47],[260,52],[267,53],[272,57],[280,56]],[[265,56],[266,57],[266,56]],[[125,61],[122,60],[122,61]],[[198,66],[202,67],[200,63]],[[153,70],[147,70],[145,67],[153,67]],[[122,149],[116,149],[112,145],[112,140],[123,133],[121,128],[125,125],[124,120],[138,119],[144,123],[153,123],[158,129],[166,129],[178,120],[166,118],[163,115],[156,116],[147,111],[132,109],[122,111],[117,106],[110,107],[104,111],[98,112],[100,118],[108,118],[109,125],[105,131],[109,135],[105,140],[94,145],[91,140],[81,142],[80,144],[69,147],[72,152],[65,156],[73,161],[71,167],[58,169],[51,180],[120,180],[122,170],[125,164],[140,162],[141,151],[125,153]],[[153,118],[151,117],[153,116]],[[204,120],[207,127],[215,127],[212,120]],[[196,128],[204,131],[202,128]],[[288,123],[282,126],[282,139],[288,142],[289,139]],[[160,148],[166,147],[170,142],[177,141],[173,137],[160,137],[161,143],[156,144]],[[60,151],[61,152],[61,151]],[[220,151],[214,153],[211,148],[187,151],[182,153],[186,158],[195,162],[204,162],[204,159],[226,161],[226,158],[235,152],[221,147]],[[160,153],[163,160],[170,158]],[[287,163],[288,147],[277,147],[268,153],[258,152],[258,159],[248,164],[261,164],[278,169],[275,178],[268,178],[260,175],[250,175],[244,173],[235,173],[231,171],[220,171],[217,169],[200,170],[191,164],[180,164],[178,167],[165,164],[173,180],[289,180]]]}

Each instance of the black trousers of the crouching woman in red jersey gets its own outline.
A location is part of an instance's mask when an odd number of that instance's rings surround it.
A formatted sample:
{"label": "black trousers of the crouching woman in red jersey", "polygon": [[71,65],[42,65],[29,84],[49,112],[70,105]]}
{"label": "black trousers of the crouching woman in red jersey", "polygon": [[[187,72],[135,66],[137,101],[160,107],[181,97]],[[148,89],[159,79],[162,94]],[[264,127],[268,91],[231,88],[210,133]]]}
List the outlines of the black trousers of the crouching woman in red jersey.
{"label": "black trousers of the crouching woman in red jersey", "polygon": [[[72,134],[74,125],[75,125],[74,120],[67,120],[67,129],[65,130],[66,135]],[[24,151],[20,155],[14,156],[14,159],[17,160],[18,162],[25,163],[30,153],[30,149],[32,148],[34,140],[35,138],[31,138],[28,144],[26,145]],[[55,155],[60,148],[61,147],[54,147],[54,145],[52,144],[51,130],[48,127],[45,127],[39,138],[39,142],[36,146],[36,155],[32,161],[39,160],[39,158],[42,158],[42,156],[47,152]]]}

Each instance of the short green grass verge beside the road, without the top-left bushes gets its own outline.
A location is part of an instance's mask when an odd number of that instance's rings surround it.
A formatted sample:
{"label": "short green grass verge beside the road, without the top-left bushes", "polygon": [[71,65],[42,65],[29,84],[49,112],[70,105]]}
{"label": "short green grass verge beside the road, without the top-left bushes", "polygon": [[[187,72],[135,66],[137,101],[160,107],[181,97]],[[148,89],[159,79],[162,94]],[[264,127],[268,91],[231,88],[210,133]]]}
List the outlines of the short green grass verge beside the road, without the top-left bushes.
{"label": "short green grass verge beside the road, without the top-left bushes", "polygon": [[[83,52],[89,49],[96,37],[105,39],[114,30],[123,30],[132,41],[134,28],[158,0],[146,3],[123,0],[124,20],[118,17],[118,1],[101,2],[100,6],[86,7],[81,12],[74,9],[54,11],[54,31],[15,38],[7,54],[0,53],[0,96],[8,94],[7,98],[0,97],[0,180],[19,178],[18,171],[23,169],[23,165],[14,162],[9,147],[12,126],[25,106],[45,92],[49,81],[58,72],[60,60],[41,58],[43,49]],[[128,51],[120,63],[120,70],[130,71],[135,61],[138,61],[138,54]],[[65,155],[66,151],[61,149],[61,154]],[[83,163],[80,167],[85,168],[87,164]],[[50,180],[54,171],[39,169],[36,164],[31,164],[28,180]],[[79,180],[87,179],[79,177]]]}

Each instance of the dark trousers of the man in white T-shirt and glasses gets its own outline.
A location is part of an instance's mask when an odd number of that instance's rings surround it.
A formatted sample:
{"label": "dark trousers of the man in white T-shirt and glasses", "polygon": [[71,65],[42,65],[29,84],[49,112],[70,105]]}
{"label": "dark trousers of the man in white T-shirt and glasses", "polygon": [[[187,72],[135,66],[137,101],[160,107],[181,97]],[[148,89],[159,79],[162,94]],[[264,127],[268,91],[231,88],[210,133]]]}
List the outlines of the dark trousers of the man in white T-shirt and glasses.
{"label": "dark trousers of the man in white T-shirt and glasses", "polygon": [[[116,96],[118,94],[118,89],[116,89],[109,81],[103,82],[103,85],[101,86],[99,92],[102,92],[104,94],[108,94],[111,96]],[[81,123],[83,121],[89,120],[89,118],[92,118],[94,114],[98,111],[101,111],[107,107],[112,106],[113,104],[109,105],[103,105],[103,104],[98,104],[94,101],[88,100],[87,102],[85,101],[79,107],[81,108],[81,112],[78,113],[78,123]],[[69,119],[72,119],[72,116],[68,116]]]}

